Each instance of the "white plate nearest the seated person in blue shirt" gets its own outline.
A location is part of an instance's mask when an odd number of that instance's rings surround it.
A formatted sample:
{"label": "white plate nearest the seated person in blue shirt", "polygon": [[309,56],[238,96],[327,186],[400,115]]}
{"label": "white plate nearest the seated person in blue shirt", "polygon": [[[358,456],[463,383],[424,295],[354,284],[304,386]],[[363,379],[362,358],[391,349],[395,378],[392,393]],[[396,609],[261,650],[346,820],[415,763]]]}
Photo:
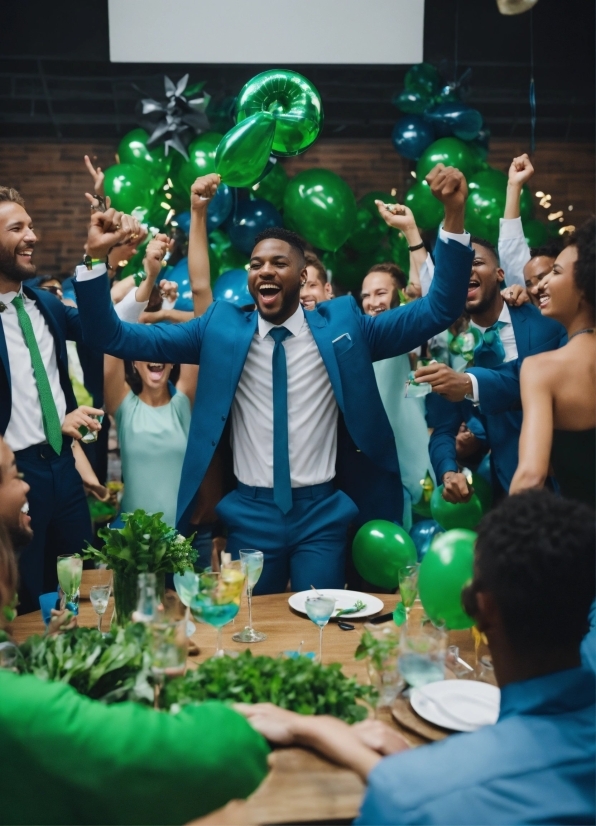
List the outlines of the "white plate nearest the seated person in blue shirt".
{"label": "white plate nearest the seated person in blue shirt", "polygon": [[489,683],[441,680],[413,688],[410,703],[417,714],[437,726],[476,731],[497,722],[501,692]]}

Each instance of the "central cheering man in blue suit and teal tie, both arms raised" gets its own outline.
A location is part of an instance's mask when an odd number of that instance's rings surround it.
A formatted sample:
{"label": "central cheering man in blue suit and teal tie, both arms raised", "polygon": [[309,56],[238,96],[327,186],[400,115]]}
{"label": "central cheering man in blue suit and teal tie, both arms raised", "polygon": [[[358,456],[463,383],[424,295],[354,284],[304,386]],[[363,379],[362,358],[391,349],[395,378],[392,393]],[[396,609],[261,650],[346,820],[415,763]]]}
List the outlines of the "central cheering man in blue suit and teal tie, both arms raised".
{"label": "central cheering man in blue suit and teal tie, both arms raised", "polygon": [[[295,590],[341,588],[348,523],[401,520],[395,440],[372,362],[409,352],[458,317],[472,258],[463,175],[439,166],[429,180],[445,205],[432,290],[377,317],[362,315],[353,298],[304,313],[304,248],[282,229],[257,238],[248,276],[252,312],[216,301],[185,324],[126,325],[112,310],[107,277],[77,272],[89,344],[119,358],[200,363],[178,529],[188,524],[216,448],[231,442],[237,487],[218,513],[233,556],[241,548],[265,554],[257,592],[281,592],[288,577]],[[206,179],[193,185],[193,221],[205,221],[203,189],[212,197],[216,187]],[[98,240],[90,254],[102,258],[112,243],[110,221],[119,218],[105,213],[93,220]]]}

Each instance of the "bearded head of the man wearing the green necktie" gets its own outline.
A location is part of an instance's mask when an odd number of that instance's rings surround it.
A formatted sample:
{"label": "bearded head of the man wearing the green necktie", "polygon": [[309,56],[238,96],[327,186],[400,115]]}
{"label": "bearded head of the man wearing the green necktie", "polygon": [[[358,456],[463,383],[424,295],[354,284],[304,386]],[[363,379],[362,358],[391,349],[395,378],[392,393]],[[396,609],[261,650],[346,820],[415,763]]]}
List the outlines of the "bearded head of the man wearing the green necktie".
{"label": "bearded head of the man wearing the green necktie", "polygon": [[4,291],[18,290],[22,281],[35,275],[31,256],[36,243],[25,208],[15,201],[0,201],[0,279]]}

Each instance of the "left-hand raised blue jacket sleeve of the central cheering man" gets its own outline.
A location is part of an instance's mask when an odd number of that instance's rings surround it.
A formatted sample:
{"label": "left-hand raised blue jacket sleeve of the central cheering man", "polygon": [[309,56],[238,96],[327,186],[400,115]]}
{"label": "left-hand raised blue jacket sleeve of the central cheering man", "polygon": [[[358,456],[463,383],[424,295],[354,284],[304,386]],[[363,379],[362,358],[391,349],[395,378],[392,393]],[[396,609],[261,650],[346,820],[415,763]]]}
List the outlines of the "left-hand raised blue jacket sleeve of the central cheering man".
{"label": "left-hand raised blue jacket sleeve of the central cheering man", "polygon": [[107,275],[75,281],[75,290],[83,340],[90,347],[121,359],[199,363],[214,304],[201,318],[182,324],[127,324],[114,311]]}

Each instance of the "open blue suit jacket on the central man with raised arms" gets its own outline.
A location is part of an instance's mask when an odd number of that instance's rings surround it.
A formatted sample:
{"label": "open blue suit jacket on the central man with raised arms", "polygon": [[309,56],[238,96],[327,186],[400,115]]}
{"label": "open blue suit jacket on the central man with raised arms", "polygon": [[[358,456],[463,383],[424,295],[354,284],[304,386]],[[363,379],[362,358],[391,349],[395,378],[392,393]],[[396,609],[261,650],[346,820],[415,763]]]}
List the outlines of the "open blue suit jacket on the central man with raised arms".
{"label": "open blue suit jacket on the central man with raised arms", "polygon": [[[426,298],[374,318],[348,297],[305,314],[340,410],[337,484],[354,499],[362,521],[399,521],[403,510],[395,439],[372,362],[414,349],[453,323],[464,306],[472,250],[457,241],[437,247]],[[201,365],[178,494],[177,524],[184,531],[222,439],[258,314],[216,301],[184,324],[134,325],[116,316],[107,277],[76,283],[76,293],[85,340],[94,348],[124,359]]]}

